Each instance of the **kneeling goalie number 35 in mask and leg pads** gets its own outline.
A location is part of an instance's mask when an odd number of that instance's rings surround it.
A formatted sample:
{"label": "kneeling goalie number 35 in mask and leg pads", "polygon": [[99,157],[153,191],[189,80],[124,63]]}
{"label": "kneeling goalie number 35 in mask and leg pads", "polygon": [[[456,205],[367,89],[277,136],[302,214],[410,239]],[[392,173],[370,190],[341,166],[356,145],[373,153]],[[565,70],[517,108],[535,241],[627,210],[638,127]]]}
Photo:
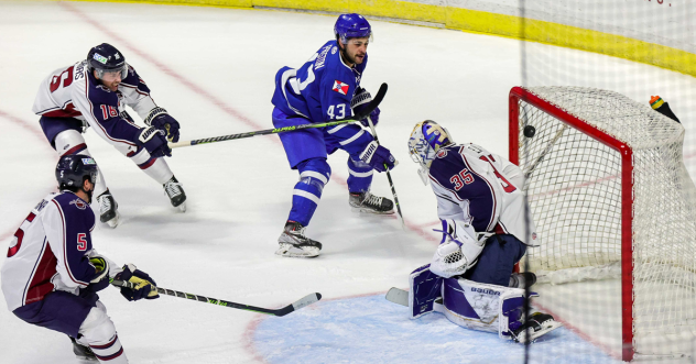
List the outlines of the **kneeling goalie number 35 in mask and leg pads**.
{"label": "kneeling goalie number 35 in mask and leg pads", "polygon": [[524,286],[536,278],[512,273],[536,239],[531,213],[524,216],[522,170],[478,145],[455,144],[429,120],[415,125],[409,151],[423,181],[432,181],[443,233],[432,263],[411,274],[411,318],[438,311],[516,342],[561,327],[542,312],[524,319]]}

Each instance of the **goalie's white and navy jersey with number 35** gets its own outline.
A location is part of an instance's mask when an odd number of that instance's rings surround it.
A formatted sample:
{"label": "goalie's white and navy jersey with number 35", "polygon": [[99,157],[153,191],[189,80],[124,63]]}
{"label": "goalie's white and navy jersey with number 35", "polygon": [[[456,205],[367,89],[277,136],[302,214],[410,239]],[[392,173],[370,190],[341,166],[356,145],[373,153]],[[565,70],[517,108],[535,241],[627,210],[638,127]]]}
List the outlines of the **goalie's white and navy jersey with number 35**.
{"label": "goalie's white and navy jersey with number 35", "polygon": [[514,164],[476,144],[455,144],[437,152],[428,177],[439,219],[465,221],[477,232],[512,234],[535,245],[531,213],[525,236],[524,177]]}

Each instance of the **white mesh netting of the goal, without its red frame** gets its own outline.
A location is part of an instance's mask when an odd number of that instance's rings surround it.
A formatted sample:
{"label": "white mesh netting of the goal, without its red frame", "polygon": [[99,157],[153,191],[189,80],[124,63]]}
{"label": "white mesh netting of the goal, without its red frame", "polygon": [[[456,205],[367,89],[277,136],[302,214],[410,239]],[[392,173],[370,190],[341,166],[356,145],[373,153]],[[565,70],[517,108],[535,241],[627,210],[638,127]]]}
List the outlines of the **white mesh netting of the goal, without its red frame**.
{"label": "white mesh netting of the goal, without its red frame", "polygon": [[[525,188],[542,244],[528,251],[528,268],[552,284],[617,279],[621,227],[631,224],[635,353],[689,355],[696,338],[696,188],[682,158],[684,129],[613,91],[528,90],[633,152],[633,219],[622,221],[620,153],[543,107],[519,101],[520,166],[529,173]],[[525,125],[536,129],[533,137],[523,135]]]}

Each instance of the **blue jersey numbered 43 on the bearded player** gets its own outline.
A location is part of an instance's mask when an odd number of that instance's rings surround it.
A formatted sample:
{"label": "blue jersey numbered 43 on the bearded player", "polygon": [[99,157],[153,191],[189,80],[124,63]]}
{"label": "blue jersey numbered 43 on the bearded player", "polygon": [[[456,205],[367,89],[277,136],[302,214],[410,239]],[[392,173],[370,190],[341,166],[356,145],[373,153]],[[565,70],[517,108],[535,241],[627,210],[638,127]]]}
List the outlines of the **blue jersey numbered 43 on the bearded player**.
{"label": "blue jersey numbered 43 on the bearded player", "polygon": [[368,64],[347,66],[336,41],[326,42],[300,69],[281,68],[275,75],[275,92],[271,102],[287,115],[312,122],[352,117],[350,100],[360,86]]}

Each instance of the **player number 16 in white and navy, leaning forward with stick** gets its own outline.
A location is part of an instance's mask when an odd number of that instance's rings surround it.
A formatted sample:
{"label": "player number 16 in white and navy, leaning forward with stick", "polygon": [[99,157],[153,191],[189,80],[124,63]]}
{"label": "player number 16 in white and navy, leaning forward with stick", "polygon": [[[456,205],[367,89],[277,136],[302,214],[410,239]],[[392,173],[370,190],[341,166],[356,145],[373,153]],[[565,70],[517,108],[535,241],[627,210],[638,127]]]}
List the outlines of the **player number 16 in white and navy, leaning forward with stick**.
{"label": "player number 16 in white and navy, leaning forward with stick", "polygon": [[[142,118],[145,128],[138,126],[126,112],[127,104]],[[178,141],[178,122],[154,103],[150,88],[112,45],[97,45],[89,49],[87,59],[51,73],[41,84],[32,110],[41,115],[41,129],[58,155],[89,155],[81,133],[83,128],[93,126],[161,184],[172,206],[186,210],[184,189],[163,158],[172,156],[167,137]],[[101,173],[95,196],[100,221],[116,228],[118,203]]]}

